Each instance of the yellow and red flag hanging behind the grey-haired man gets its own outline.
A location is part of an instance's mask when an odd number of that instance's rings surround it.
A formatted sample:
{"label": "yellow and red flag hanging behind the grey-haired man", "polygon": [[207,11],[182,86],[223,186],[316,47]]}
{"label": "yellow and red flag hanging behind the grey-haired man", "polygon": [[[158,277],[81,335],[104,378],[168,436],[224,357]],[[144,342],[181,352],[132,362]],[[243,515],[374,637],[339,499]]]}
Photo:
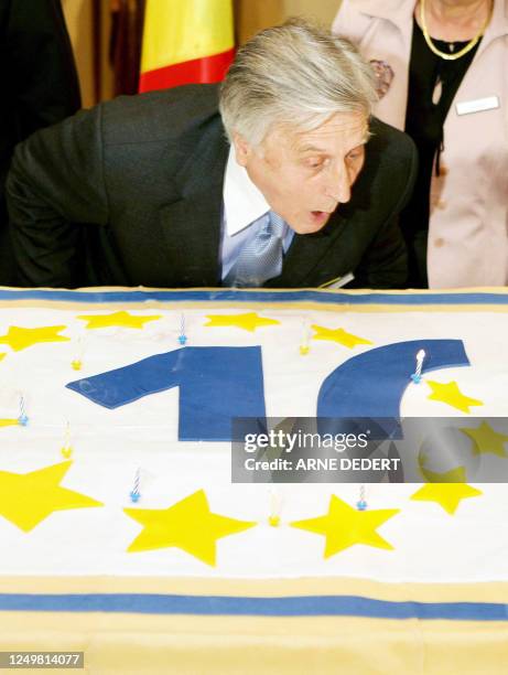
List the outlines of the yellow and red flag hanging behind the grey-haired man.
{"label": "yellow and red flag hanging behind the grey-haired man", "polygon": [[139,90],[219,82],[234,46],[233,0],[147,0]]}

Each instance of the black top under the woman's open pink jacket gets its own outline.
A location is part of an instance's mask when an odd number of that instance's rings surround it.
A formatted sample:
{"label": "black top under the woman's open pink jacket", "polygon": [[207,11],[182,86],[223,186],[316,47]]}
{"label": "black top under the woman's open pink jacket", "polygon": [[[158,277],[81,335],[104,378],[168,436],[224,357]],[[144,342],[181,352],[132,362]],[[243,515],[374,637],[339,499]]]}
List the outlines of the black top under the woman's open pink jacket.
{"label": "black top under the woman's open pink jacket", "polygon": [[[432,42],[445,53],[458,52],[467,44],[434,39]],[[479,42],[461,58],[445,61],[429,49],[421,28],[413,19],[406,131],[417,143],[419,173],[413,195],[401,214],[401,226],[409,248],[410,286],[417,288],[428,286],[426,236],[434,157],[437,153],[435,170],[439,172],[439,157],[445,143],[444,120]]]}

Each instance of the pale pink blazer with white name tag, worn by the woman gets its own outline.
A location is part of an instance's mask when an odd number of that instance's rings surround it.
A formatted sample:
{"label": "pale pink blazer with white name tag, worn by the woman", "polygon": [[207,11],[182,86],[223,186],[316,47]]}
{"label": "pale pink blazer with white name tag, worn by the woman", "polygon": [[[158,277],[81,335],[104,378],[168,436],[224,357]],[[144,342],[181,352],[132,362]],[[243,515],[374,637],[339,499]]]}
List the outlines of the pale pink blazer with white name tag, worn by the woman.
{"label": "pale pink blazer with white name tag, worn by the woman", "polygon": [[[394,76],[375,114],[403,129],[415,0],[343,0],[334,32]],[[462,114],[460,114],[462,113]],[[508,0],[495,0],[444,125],[431,186],[429,286],[508,286]]]}

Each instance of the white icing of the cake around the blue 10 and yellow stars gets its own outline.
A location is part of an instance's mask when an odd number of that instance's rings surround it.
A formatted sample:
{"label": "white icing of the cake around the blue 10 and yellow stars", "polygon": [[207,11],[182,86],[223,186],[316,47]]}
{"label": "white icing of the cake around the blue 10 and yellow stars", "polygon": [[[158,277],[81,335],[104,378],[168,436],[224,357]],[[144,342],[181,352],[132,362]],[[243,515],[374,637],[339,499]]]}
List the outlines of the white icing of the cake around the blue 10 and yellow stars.
{"label": "white icing of the cake around the blue 10 and yellow stars", "polygon": [[[347,298],[347,296],[345,296]],[[118,309],[136,315],[162,318],[142,330],[104,328],[86,330],[78,314],[110,313]],[[508,309],[508,304],[506,306]],[[432,379],[456,381],[463,393],[483,401],[471,415],[430,400],[430,388],[408,381],[401,400],[402,416],[464,418],[508,416],[508,313],[504,308],[441,308],[407,311],[371,304],[313,304],[303,309],[282,302],[260,304],[172,302],[149,306],[65,306],[26,301],[0,307],[0,334],[10,325],[35,328],[64,325],[68,342],[41,343],[14,352],[0,345],[0,418],[17,417],[23,394],[29,426],[0,428],[0,469],[25,473],[64,461],[61,447],[71,425],[73,465],[62,484],[105,504],[99,508],[55,512],[32,532],[23,533],[0,518],[3,575],[130,575],[299,577],[355,576],[381,581],[508,580],[508,567],[499,550],[508,547],[508,494],[504,484],[478,485],[478,499],[464,500],[454,516],[434,503],[411,501],[412,484],[372,484],[367,488],[369,508],[400,508],[380,527],[394,547],[382,550],[353,546],[323,559],[323,537],[290,527],[292,521],[322,515],[331,494],[349,504],[358,499],[357,485],[280,485],[281,525],[270,527],[270,485],[230,483],[230,443],[177,440],[177,388],[141,398],[115,410],[93,404],[65,385],[180,349],[181,313],[185,314],[188,346],[252,346],[262,350],[267,415],[316,414],[324,378],[345,360],[376,346],[423,339],[464,342],[469,367],[436,371]],[[248,332],[239,328],[206,326],[209,314],[257,311],[279,325]],[[303,326],[343,328],[374,344],[348,349],[335,342],[310,340],[310,351],[299,347]],[[311,335],[313,331],[311,330]],[[80,339],[80,345],[79,345]],[[71,362],[83,347],[83,367]],[[220,396],[220,392],[217,392]],[[502,459],[499,459],[502,461]],[[258,521],[252,529],[225,537],[217,544],[217,567],[208,567],[176,548],[127,554],[140,526],[126,516],[129,491],[141,468],[141,508],[166,508],[204,489],[212,511],[230,517]]]}

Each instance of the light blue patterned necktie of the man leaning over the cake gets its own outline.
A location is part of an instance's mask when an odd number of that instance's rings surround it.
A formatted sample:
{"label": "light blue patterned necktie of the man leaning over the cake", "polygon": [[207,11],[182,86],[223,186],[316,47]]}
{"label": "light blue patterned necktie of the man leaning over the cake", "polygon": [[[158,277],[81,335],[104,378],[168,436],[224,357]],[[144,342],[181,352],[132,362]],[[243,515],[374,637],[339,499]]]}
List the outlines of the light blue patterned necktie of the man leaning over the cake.
{"label": "light blue patterned necktie of the man leaning over the cake", "polygon": [[269,211],[256,235],[247,242],[226,277],[228,286],[257,288],[282,271],[285,223]]}

